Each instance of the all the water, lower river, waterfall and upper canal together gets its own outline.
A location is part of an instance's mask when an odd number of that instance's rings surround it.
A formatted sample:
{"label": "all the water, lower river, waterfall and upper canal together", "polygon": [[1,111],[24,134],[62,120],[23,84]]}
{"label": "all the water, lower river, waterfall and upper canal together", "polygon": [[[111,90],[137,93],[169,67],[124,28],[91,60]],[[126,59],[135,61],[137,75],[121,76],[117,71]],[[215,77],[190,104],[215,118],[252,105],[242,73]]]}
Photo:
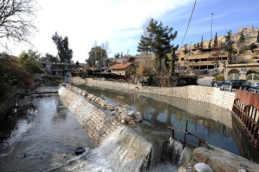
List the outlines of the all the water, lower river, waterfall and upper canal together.
{"label": "all the water, lower river, waterfall and upper canal together", "polygon": [[[198,141],[187,137],[183,147],[178,138],[183,140],[184,134],[175,131],[170,139],[167,126],[184,129],[186,120],[188,131],[209,144],[259,161],[229,111],[172,97],[81,89],[114,104],[129,104],[142,114],[142,123],[124,125],[96,146],[57,93],[27,95],[0,125],[0,171],[177,171],[191,159]],[[80,146],[85,152],[75,155]]]}

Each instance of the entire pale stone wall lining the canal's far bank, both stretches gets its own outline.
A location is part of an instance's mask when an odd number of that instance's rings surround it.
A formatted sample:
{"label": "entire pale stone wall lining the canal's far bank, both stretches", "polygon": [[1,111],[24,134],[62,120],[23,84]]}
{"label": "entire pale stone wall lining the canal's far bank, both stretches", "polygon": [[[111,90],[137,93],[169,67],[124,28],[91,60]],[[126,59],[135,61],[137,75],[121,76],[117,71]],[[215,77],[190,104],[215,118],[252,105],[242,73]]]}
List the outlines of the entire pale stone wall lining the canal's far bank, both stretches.
{"label": "entire pale stone wall lining the canal's far bank, both stretches", "polygon": [[132,90],[138,93],[148,93],[152,95],[164,95],[169,97],[177,97],[183,99],[191,99],[200,102],[212,103],[227,110],[232,110],[235,93],[229,91],[221,91],[216,87],[205,87],[199,85],[188,85],[185,87],[170,88],[144,88],[141,85],[129,83],[119,83],[111,81],[99,81],[92,78],[82,79],[80,77],[67,77],[68,83],[77,85],[89,85],[105,87],[107,89]]}

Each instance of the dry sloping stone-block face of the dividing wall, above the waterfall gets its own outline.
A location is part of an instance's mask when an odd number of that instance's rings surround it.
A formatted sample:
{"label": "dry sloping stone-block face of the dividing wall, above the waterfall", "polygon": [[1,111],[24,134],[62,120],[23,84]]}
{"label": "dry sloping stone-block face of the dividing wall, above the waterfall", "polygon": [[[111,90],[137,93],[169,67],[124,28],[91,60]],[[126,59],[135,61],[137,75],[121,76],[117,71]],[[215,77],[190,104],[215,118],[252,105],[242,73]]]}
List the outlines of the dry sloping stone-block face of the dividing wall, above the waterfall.
{"label": "dry sloping stone-block face of the dividing wall, above the waterfall", "polygon": [[76,92],[60,85],[58,94],[96,144],[112,134],[120,125],[119,121],[105,114]]}

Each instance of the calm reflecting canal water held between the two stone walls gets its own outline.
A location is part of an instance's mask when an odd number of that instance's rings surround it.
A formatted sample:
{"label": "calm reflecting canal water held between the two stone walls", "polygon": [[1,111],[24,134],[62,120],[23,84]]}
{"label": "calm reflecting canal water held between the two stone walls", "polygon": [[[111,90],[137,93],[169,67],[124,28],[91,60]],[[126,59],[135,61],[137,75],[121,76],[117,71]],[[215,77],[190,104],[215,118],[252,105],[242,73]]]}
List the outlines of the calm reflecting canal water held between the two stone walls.
{"label": "calm reflecting canal water held between the two stone walls", "polygon": [[[244,144],[243,141],[239,141],[240,138],[247,140],[246,135],[237,136],[236,133],[239,132],[233,132],[236,130],[233,126],[240,125],[232,119],[230,111],[221,107],[210,103],[131,91],[113,90],[111,92],[96,86],[79,85],[77,87],[98,97],[104,97],[110,103],[128,104],[132,110],[139,111],[144,121],[142,124],[129,127],[146,134],[153,142],[170,137],[170,130],[167,126],[185,129],[186,120],[188,120],[188,131],[192,134],[206,140],[209,144],[259,162],[258,150],[253,148],[251,142]],[[177,138],[184,139],[184,134],[181,132],[175,131],[174,134]],[[187,137],[186,141],[189,144],[198,145],[198,141],[192,137]]]}

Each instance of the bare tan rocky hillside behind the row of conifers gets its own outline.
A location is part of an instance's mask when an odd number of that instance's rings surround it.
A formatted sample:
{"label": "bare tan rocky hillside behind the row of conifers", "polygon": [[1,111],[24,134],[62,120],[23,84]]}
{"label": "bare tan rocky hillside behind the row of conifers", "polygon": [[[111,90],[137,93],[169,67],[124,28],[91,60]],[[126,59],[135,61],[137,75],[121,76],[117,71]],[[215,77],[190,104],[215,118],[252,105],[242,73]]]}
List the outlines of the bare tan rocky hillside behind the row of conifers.
{"label": "bare tan rocky hillside behind the row of conifers", "polygon": [[[259,30],[259,28],[256,28],[254,30],[248,30],[248,31],[243,32],[244,36],[245,36],[245,45],[249,46],[251,43],[256,43],[258,30]],[[235,44],[234,44],[235,49],[237,49],[237,41],[240,37],[240,34],[241,34],[241,32],[231,34],[231,40],[233,40],[235,42]],[[225,38],[224,38],[225,36],[226,35],[218,37],[218,41],[225,42]],[[215,35],[214,35],[214,37],[215,37]],[[212,42],[213,41],[214,41],[214,39],[212,40]],[[203,42],[203,48],[208,48],[209,42],[210,42],[210,40],[204,41]],[[194,48],[194,44],[195,43],[193,43],[192,48]],[[200,44],[200,42],[199,42],[199,44]]]}

